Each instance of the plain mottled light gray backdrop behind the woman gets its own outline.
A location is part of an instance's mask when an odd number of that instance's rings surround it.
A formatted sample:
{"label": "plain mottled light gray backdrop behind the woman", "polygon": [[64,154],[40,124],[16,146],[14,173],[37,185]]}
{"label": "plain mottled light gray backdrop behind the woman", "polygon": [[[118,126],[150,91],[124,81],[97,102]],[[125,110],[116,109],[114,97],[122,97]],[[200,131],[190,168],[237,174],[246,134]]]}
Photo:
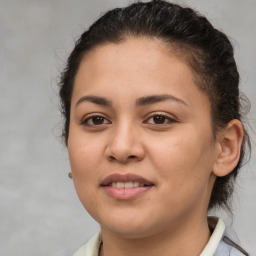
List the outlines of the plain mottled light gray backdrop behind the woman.
{"label": "plain mottled light gray backdrop behind the woman", "polygon": [[[256,1],[178,2],[195,7],[232,38],[256,131]],[[98,229],[67,177],[56,84],[79,33],[102,12],[127,3],[0,0],[0,255],[72,255]],[[254,148],[238,181],[233,218],[254,250],[255,159]]]}

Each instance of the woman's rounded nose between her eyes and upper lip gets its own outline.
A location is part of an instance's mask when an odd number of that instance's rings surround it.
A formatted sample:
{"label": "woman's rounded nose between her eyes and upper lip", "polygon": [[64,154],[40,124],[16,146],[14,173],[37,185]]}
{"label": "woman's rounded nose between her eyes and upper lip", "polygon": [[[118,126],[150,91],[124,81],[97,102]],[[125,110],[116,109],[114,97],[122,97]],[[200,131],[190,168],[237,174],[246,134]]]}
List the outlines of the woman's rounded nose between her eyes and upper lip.
{"label": "woman's rounded nose between her eyes and upper lip", "polygon": [[138,129],[133,125],[121,124],[113,129],[106,148],[109,161],[127,163],[141,161],[145,150]]}

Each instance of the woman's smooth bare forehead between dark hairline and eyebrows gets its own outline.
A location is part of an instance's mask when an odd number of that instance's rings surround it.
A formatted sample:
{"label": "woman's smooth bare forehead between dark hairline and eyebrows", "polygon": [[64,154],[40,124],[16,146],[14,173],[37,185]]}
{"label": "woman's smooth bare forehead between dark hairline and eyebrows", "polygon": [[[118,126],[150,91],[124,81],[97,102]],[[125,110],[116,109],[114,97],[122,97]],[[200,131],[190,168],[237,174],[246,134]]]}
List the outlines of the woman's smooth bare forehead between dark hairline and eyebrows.
{"label": "woman's smooth bare forehead between dark hairline and eyebrows", "polygon": [[87,93],[113,96],[119,90],[145,96],[161,90],[161,94],[176,94],[188,100],[196,97],[199,90],[193,72],[174,50],[158,39],[149,38],[97,46],[80,63],[73,96]]}

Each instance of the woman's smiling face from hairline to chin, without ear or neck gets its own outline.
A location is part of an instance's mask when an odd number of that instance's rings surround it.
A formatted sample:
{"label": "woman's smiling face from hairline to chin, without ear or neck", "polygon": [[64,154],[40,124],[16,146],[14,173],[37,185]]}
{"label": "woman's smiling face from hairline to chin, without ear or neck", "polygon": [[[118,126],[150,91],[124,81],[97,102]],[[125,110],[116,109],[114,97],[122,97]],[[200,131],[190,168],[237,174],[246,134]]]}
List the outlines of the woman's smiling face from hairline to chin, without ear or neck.
{"label": "woman's smiling face from hairline to chin, without ear or neck", "polygon": [[206,218],[217,151],[210,103],[159,41],[86,54],[68,151],[77,194],[102,230],[143,237]]}

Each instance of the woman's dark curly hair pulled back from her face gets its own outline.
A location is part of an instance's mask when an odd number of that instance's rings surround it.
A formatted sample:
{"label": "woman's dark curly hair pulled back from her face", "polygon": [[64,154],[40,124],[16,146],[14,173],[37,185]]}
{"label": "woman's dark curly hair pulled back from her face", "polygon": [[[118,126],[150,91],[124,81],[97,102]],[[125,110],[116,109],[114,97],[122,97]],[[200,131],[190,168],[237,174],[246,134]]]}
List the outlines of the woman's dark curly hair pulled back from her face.
{"label": "woman's dark curly hair pulled back from her face", "polygon": [[[136,2],[105,13],[77,40],[60,79],[60,98],[64,116],[63,137],[68,142],[71,96],[74,79],[84,55],[105,44],[119,44],[132,37],[158,39],[184,59],[194,73],[198,87],[211,102],[214,135],[232,119],[243,119],[239,73],[228,37],[194,10],[163,0]],[[234,170],[217,177],[209,209],[226,206],[250,140],[244,129],[240,159]]]}

